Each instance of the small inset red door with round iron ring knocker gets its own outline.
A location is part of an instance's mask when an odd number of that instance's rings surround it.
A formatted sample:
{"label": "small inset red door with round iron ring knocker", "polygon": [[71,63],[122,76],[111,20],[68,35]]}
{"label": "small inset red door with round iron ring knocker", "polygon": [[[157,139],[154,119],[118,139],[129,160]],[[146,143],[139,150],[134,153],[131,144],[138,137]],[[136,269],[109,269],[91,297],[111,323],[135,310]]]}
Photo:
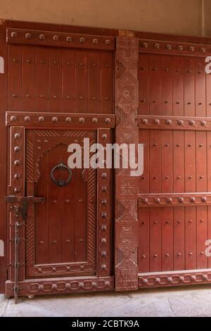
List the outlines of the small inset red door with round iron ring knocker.
{"label": "small inset red door with round iron ring knocker", "polygon": [[96,132],[27,130],[26,194],[44,196],[29,207],[27,277],[96,274],[96,170],[68,168],[68,146],[96,142]]}

